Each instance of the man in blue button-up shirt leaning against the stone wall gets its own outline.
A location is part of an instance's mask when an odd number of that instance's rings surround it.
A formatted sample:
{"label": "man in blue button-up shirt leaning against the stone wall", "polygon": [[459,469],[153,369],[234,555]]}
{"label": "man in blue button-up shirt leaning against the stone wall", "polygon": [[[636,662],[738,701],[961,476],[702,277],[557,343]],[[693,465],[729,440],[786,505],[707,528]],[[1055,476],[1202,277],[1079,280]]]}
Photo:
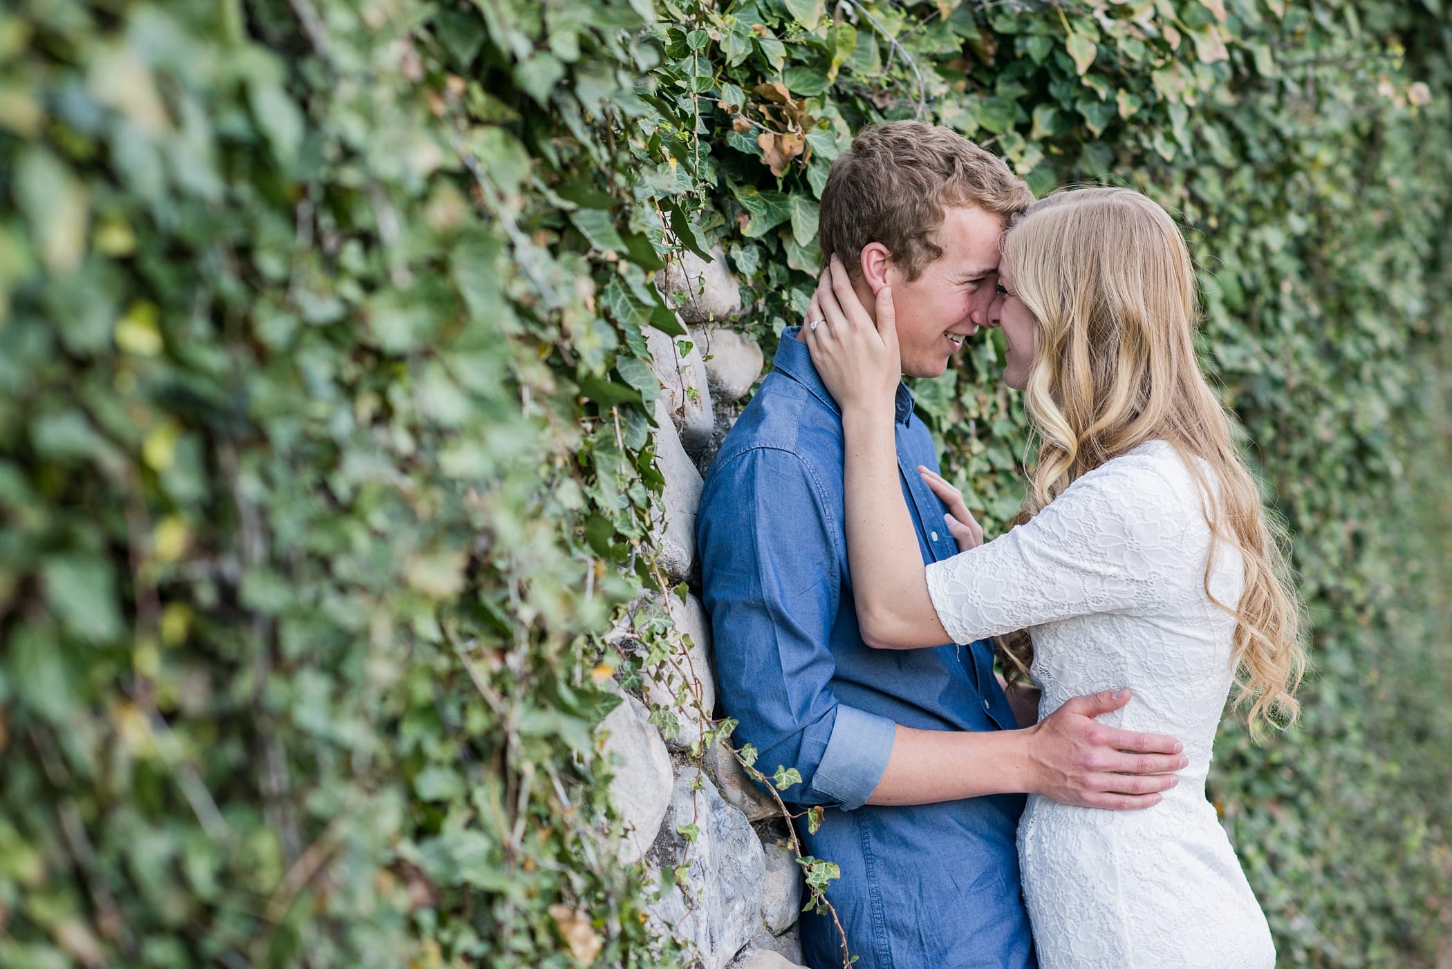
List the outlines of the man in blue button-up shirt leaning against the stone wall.
{"label": "man in blue button-up shirt leaning against the stone wall", "polygon": [[[999,236],[1029,202],[1002,160],[948,129],[871,128],[832,165],[822,252],[847,265],[864,306],[892,286],[903,373],[935,377],[990,322]],[[912,409],[899,386],[902,487],[923,560],[935,561],[958,548],[916,470],[938,461]],[[810,854],[842,870],[828,898],[857,966],[1032,966],[1015,850],[1024,793],[1146,807],[1182,756],[1173,738],[1093,722],[1127,693],[1070,701],[1040,724],[1025,711],[1019,728],[987,643],[865,646],[847,569],[842,457],[838,408],[787,331],[697,516],[735,741],[756,747],[768,776],[778,764],[800,772],[787,801],[825,805],[817,833],[800,833]],[[842,963],[831,917],[803,915],[802,940],[809,965]]]}

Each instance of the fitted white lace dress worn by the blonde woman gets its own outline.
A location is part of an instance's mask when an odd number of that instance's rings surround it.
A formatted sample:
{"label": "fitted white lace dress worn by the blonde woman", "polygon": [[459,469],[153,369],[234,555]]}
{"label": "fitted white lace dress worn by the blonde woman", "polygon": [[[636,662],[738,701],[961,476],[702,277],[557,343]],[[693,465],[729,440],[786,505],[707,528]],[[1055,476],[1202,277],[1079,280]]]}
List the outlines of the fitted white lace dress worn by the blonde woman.
{"label": "fitted white lace dress worn by the blonde woman", "polygon": [[[1205,596],[1208,551],[1189,470],[1151,441],[1028,524],[928,566],[932,603],[958,643],[1031,630],[1041,717],[1128,686],[1130,704],[1099,721],[1175,735],[1189,756],[1179,786],[1144,811],[1029,795],[1018,852],[1044,969],[1275,965],[1265,915],[1205,799],[1234,631]],[[1210,587],[1221,602],[1240,598],[1240,557],[1224,544]]]}

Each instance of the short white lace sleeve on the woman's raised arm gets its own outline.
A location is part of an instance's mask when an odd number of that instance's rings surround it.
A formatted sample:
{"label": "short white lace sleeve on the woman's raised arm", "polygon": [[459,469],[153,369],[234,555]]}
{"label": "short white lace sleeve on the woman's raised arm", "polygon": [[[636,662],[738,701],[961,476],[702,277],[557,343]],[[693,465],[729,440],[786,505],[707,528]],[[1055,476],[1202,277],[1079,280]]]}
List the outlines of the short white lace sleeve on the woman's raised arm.
{"label": "short white lace sleeve on the woman's raised arm", "polygon": [[1029,522],[929,564],[928,595],[944,630],[954,641],[970,643],[1163,602],[1204,567],[1204,554],[1186,547],[1198,502],[1186,500],[1185,489],[1173,486],[1159,464],[1137,455],[1115,458],[1070,484]]}

